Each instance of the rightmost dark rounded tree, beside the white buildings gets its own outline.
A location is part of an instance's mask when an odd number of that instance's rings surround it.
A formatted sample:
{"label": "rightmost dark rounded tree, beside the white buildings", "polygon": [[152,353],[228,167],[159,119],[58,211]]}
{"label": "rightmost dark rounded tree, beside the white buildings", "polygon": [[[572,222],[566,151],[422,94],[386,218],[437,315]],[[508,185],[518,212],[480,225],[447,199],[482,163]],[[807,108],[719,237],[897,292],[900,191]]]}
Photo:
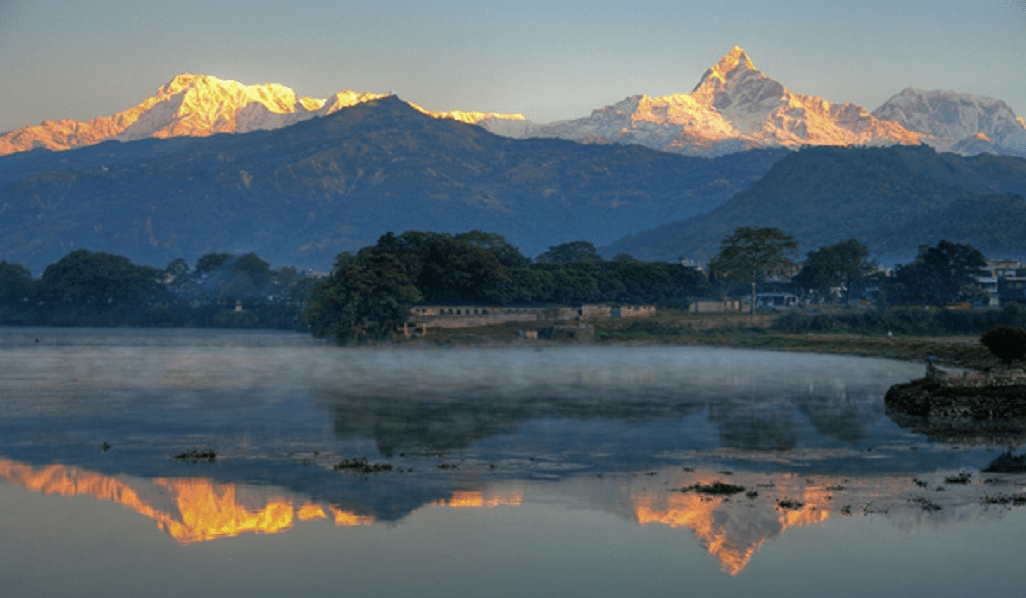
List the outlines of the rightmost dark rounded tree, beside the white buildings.
{"label": "rightmost dark rounded tree, beside the white buildings", "polygon": [[920,250],[895,273],[896,294],[906,304],[949,305],[973,301],[983,289],[976,281],[987,260],[972,245],[941,241]]}

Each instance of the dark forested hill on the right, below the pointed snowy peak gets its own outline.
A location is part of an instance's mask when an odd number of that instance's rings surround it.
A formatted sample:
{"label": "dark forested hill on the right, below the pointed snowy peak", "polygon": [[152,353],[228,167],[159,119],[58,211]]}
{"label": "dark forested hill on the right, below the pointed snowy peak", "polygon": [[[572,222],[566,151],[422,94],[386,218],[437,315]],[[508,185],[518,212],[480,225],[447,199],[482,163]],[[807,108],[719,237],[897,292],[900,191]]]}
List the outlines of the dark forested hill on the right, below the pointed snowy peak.
{"label": "dark forested hill on the right, below the pointed snowy peak", "polygon": [[920,147],[806,148],[709,213],[625,237],[603,254],[707,260],[739,226],[777,227],[802,252],[845,239],[882,262],[946,239],[1026,256],[1026,160],[965,158]]}

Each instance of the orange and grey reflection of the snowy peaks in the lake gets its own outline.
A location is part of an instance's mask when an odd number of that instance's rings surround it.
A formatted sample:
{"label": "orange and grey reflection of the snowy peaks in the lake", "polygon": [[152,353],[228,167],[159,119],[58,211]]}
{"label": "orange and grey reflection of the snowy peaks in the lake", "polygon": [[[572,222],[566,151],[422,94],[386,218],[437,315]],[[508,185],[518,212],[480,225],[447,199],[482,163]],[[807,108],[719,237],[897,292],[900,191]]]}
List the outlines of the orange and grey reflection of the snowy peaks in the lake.
{"label": "orange and grey reflection of the snowy peaks in the lake", "polygon": [[[520,482],[515,484],[517,489],[509,488],[507,483],[479,490],[453,490],[448,497],[420,509],[515,508],[542,494],[547,501],[558,497],[566,503],[585,495],[589,508],[610,512],[641,526],[688,530],[719,560],[724,572],[735,575],[765,542],[788,529],[823,523],[831,517],[874,513],[911,530],[923,524],[939,526],[1000,517],[1016,505],[1001,504],[995,497],[1007,496],[1004,492],[1009,491],[1026,497],[1023,480],[1016,477],[992,475],[971,483],[951,481],[955,479],[951,473],[924,477],[814,479],[794,474],[741,473],[732,475],[729,481],[747,492],[724,497],[686,489],[723,480],[719,472],[646,472],[610,479],[567,479],[555,486]],[[298,521],[330,521],[340,527],[376,522],[373,515],[359,515],[345,506],[318,504],[280,487],[219,483],[206,478],[107,476],[74,467],[35,468],[0,460],[0,479],[35,492],[113,501],[153,519],[182,544],[242,533],[280,533]],[[665,483],[658,483],[660,480]]]}

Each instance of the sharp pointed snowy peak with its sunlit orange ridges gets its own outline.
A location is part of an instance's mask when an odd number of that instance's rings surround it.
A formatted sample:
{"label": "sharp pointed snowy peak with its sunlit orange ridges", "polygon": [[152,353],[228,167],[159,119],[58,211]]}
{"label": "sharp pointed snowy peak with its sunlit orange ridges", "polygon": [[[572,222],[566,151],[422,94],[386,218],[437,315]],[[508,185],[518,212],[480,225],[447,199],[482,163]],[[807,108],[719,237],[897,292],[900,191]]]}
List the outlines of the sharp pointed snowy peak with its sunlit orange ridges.
{"label": "sharp pointed snowy peak with its sunlit orange ridges", "polygon": [[536,125],[528,134],[640,144],[690,155],[754,147],[918,144],[922,136],[861,106],[794,93],[759,72],[737,46],[706,71],[690,93],[635,95],[586,118]]}

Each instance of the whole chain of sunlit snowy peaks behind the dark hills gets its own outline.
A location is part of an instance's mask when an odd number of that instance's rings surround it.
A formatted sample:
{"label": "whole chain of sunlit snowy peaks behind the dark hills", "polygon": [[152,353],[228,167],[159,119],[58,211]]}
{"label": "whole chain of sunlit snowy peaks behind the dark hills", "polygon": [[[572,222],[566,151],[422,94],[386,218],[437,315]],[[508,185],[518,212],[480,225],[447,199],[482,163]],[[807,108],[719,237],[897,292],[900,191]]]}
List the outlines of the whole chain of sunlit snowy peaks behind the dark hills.
{"label": "whole chain of sunlit snowy peaks behind the dark hills", "polygon": [[[297,97],[277,84],[243,85],[180,75],[140,105],[88,122],[45,121],[0,134],[0,155],[31,149],[67,150],[106,139],[205,136],[273,129],[326,116],[384,93],[341,91],[329,98]],[[1026,124],[999,99],[907,88],[876,110],[790,91],[762,74],[735,47],[702,76],[690,93],[633,95],[583,118],[539,124],[519,114],[431,112],[514,138],[636,144],[693,156],[810,145],[928,144],[963,155],[1026,156]]]}

